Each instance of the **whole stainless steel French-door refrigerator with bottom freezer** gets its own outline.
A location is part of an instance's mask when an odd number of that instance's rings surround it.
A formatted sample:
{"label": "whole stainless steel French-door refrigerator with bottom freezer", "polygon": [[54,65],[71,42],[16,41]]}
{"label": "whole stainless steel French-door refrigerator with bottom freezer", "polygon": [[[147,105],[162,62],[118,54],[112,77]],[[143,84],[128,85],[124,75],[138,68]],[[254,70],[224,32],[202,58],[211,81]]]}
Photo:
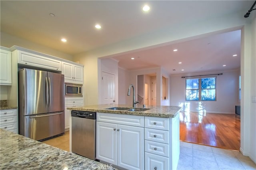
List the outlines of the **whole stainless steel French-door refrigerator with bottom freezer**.
{"label": "whole stainless steel French-door refrigerator with bottom freezer", "polygon": [[19,134],[43,140],[65,130],[64,75],[21,69],[19,77]]}

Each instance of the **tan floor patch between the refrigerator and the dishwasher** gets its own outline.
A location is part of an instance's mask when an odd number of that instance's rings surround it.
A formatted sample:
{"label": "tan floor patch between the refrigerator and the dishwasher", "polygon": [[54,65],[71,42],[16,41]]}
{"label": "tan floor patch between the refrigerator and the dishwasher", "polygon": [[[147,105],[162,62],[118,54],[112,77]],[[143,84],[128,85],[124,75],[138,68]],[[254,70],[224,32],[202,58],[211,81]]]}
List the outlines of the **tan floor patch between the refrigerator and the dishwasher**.
{"label": "tan floor patch between the refrigerator and the dishwasher", "polygon": [[69,131],[66,131],[64,135],[44,140],[42,142],[56,148],[69,151]]}

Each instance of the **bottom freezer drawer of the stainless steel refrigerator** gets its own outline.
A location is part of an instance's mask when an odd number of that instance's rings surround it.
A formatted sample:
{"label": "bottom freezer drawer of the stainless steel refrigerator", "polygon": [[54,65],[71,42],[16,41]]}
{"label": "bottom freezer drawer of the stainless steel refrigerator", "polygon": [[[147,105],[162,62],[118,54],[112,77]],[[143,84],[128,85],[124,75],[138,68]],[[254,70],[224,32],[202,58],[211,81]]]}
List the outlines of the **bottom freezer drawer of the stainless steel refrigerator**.
{"label": "bottom freezer drawer of the stainless steel refrigerator", "polygon": [[24,116],[24,136],[42,140],[64,133],[65,113],[50,113]]}

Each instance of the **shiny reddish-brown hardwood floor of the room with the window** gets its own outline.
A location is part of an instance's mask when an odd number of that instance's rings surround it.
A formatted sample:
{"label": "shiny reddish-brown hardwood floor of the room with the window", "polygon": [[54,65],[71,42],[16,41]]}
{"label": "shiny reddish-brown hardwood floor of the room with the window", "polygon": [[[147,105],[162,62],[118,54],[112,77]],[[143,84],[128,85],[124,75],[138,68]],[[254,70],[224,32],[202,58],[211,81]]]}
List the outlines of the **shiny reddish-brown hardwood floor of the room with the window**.
{"label": "shiny reddish-brown hardwood floor of the room with the window", "polygon": [[180,140],[218,148],[240,149],[240,117],[180,112]]}

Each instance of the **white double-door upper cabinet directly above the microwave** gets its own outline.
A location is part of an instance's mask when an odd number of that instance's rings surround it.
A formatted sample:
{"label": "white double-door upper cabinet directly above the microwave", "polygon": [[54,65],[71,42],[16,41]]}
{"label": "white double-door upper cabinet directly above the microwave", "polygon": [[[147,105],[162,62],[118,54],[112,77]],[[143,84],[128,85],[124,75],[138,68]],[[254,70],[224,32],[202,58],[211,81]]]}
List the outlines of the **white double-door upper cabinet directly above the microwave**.
{"label": "white double-door upper cabinet directly above the microwave", "polygon": [[62,62],[62,74],[65,76],[65,82],[83,83],[84,67],[67,62]]}

